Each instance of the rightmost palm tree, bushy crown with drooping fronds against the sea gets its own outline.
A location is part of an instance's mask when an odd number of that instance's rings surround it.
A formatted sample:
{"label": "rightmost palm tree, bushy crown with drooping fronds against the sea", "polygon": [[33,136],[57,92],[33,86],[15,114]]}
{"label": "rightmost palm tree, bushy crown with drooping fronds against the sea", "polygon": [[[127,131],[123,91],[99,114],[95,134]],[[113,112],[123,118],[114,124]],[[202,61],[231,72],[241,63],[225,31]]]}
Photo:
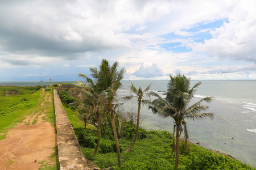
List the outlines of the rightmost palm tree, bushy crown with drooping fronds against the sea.
{"label": "rightmost palm tree, bushy crown with drooping fronds against the sea", "polygon": [[195,88],[199,87],[201,82],[196,83],[195,86],[189,89],[190,78],[187,78],[185,75],[170,75],[170,78],[171,80],[168,82],[167,92],[163,94],[166,95],[166,97],[163,98],[155,92],[150,92],[150,95],[157,99],[148,102],[148,108],[151,109],[153,113],[157,113],[164,118],[172,117],[174,119],[176,147],[175,143],[173,143],[173,152],[175,153],[176,150],[175,169],[177,169],[179,163],[179,138],[182,131],[184,131],[185,150],[187,150],[188,130],[185,118],[191,118],[192,120],[203,119],[205,117],[213,118],[213,113],[200,112],[209,108],[206,105],[201,105],[201,103],[203,101],[210,103],[214,97],[205,97],[191,105],[191,107],[188,107],[189,101],[191,101],[195,95]]}

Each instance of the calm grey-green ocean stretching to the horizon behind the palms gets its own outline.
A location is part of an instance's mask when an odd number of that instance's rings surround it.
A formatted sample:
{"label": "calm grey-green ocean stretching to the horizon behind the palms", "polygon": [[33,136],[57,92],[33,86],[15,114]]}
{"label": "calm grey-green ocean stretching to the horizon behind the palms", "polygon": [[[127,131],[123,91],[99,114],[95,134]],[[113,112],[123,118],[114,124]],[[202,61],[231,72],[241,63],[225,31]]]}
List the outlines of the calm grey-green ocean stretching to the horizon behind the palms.
{"label": "calm grey-green ocean stretching to the horizon behind the palms", "polygon": [[[135,87],[146,88],[152,81],[133,80]],[[187,120],[189,141],[200,142],[201,146],[232,155],[242,163],[256,167],[256,80],[191,80],[191,86],[201,82],[191,104],[206,96],[214,96],[207,112],[214,113],[214,119]],[[75,82],[52,82],[75,83]],[[155,80],[150,91],[160,95],[167,89],[168,80]],[[36,86],[49,82],[0,82],[0,85]],[[130,82],[122,81],[119,97],[130,95]],[[144,95],[146,99],[146,94]],[[124,112],[137,112],[137,100],[126,101]],[[141,126],[147,130],[167,130],[172,133],[172,118],[153,114],[142,106]]]}

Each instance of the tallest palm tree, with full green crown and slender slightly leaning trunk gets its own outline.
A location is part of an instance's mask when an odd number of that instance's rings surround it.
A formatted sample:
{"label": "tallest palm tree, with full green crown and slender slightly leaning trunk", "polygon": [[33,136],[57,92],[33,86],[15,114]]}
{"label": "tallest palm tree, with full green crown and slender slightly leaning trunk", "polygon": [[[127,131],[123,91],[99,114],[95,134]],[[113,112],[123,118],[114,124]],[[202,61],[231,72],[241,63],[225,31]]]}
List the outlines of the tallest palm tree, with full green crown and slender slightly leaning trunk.
{"label": "tallest palm tree, with full green crown and slender slightly leaning trunk", "polygon": [[120,148],[117,138],[117,130],[115,129],[114,114],[115,109],[120,105],[117,104],[117,90],[121,87],[121,80],[123,79],[123,74],[125,69],[117,69],[118,62],[114,62],[112,66],[109,65],[109,62],[106,59],[102,59],[100,65],[100,71],[96,67],[90,67],[91,76],[95,79],[95,83],[92,79],[89,79],[84,74],[79,74],[80,77],[86,78],[86,82],[89,84],[92,89],[98,94],[106,94],[106,101],[104,102],[104,108],[109,113],[112,128],[114,132],[115,145],[117,147],[117,157],[118,157],[118,166],[121,167],[121,155]]}

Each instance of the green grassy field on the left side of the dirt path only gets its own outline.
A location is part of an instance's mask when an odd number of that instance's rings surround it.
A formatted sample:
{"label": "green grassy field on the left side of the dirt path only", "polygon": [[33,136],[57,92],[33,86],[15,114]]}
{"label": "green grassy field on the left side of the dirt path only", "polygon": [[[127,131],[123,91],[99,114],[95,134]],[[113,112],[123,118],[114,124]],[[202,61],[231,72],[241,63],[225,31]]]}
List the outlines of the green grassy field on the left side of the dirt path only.
{"label": "green grassy field on the left side of the dirt path only", "polygon": [[[8,91],[18,91],[19,95],[5,95]],[[31,94],[32,93],[32,94]],[[6,133],[8,129],[22,122],[29,116],[39,104],[42,91],[36,91],[34,87],[0,87],[0,133]],[[44,99],[43,99],[44,100]],[[4,139],[5,134],[0,139]]]}

